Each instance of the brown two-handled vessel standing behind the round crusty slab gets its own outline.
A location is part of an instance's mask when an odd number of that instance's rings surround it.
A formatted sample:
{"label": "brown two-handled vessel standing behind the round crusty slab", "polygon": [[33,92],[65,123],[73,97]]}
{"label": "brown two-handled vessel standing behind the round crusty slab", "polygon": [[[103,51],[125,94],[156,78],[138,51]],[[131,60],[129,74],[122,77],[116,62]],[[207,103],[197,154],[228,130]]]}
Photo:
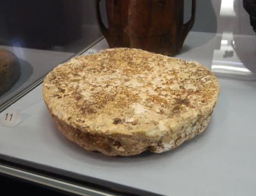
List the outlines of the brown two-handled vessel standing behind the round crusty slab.
{"label": "brown two-handled vessel standing behind the round crusty slab", "polygon": [[183,0],[106,0],[108,27],[97,17],[110,47],[141,48],[164,55],[177,54],[194,25],[196,0],[191,19],[183,23]]}

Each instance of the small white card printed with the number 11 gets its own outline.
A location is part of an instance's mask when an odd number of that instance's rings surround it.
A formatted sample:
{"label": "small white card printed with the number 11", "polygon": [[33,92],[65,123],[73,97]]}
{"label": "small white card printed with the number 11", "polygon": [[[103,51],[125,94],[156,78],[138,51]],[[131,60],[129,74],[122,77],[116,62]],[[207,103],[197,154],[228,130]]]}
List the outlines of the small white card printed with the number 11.
{"label": "small white card printed with the number 11", "polygon": [[6,111],[0,114],[0,124],[4,127],[15,127],[22,121],[19,111]]}

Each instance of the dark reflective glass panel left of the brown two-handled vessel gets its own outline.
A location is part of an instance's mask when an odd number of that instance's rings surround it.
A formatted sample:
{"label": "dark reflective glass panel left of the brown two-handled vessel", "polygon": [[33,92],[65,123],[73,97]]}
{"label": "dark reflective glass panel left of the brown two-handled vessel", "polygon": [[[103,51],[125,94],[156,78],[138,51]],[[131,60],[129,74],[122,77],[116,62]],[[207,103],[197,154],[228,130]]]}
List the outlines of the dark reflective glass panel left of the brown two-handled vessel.
{"label": "dark reflective glass panel left of the brown two-handled vessel", "polygon": [[[5,67],[0,68],[0,106],[101,36],[94,2],[10,0],[0,3],[0,66]],[[15,65],[4,56],[7,52],[17,58]],[[7,61],[9,65],[3,64]],[[17,75],[19,78],[15,79]]]}

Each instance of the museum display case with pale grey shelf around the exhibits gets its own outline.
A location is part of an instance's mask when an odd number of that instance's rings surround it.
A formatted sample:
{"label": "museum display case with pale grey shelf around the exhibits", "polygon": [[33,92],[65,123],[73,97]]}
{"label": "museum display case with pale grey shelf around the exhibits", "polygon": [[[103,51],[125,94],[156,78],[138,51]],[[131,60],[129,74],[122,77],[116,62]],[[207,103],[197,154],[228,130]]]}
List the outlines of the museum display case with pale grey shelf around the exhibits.
{"label": "museum display case with pale grey shelf around the exhibits", "polygon": [[[171,151],[130,157],[108,157],[70,142],[43,100],[43,79],[54,67],[109,48],[97,1],[8,2],[0,6],[0,48],[11,53],[8,62],[18,66],[19,76],[0,91],[0,174],[65,194],[255,194],[256,34],[242,0],[197,0],[194,25],[175,54],[218,78],[209,126]],[[107,27],[105,1],[99,3]],[[184,6],[186,23],[192,1]],[[0,87],[12,77],[1,75]]]}

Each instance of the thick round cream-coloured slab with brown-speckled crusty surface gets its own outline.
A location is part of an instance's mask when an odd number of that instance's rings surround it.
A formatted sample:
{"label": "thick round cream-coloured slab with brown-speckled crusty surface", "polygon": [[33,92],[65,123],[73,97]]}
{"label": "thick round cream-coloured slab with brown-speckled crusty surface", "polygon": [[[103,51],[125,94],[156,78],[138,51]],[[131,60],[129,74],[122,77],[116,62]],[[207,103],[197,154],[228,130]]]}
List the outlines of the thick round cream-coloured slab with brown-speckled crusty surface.
{"label": "thick round cream-coloured slab with brown-speckled crusty surface", "polygon": [[110,156],[175,148],[205,129],[218,95],[201,64],[131,48],[76,56],[43,84],[60,131]]}

